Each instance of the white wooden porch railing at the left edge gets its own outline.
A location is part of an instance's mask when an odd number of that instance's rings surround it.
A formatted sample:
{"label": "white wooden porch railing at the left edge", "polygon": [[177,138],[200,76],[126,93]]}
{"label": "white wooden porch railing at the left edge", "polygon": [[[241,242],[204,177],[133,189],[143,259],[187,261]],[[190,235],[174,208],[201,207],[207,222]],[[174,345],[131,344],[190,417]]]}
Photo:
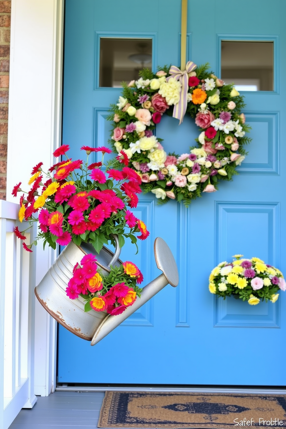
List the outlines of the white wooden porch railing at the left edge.
{"label": "white wooden porch railing at the left edge", "polygon": [[[19,205],[0,200],[0,427],[9,428],[34,395],[34,314],[36,252],[23,249],[13,230]],[[21,228],[20,228],[21,226]],[[24,227],[24,228],[23,228]],[[33,230],[30,230],[31,234]],[[27,236],[26,242],[30,238]]]}

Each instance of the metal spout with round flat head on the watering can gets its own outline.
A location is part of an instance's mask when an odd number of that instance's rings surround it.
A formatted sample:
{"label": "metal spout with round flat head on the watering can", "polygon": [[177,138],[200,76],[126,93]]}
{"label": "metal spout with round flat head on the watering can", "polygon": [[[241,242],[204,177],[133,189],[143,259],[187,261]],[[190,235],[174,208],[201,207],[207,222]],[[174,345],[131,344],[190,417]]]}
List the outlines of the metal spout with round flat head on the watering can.
{"label": "metal spout with round flat head on the watering can", "polygon": [[127,317],[134,313],[140,308],[145,302],[151,299],[156,293],[158,293],[167,284],[171,284],[176,287],[179,283],[178,269],[175,259],[169,246],[164,242],[163,239],[157,237],[154,242],[154,254],[157,267],[163,271],[163,274],[148,283],[141,292],[141,298],[137,298],[135,302],[126,308],[121,314],[114,316],[108,315],[102,320],[102,323],[96,329],[91,345],[98,343],[104,338],[109,332],[116,328],[122,323]]}

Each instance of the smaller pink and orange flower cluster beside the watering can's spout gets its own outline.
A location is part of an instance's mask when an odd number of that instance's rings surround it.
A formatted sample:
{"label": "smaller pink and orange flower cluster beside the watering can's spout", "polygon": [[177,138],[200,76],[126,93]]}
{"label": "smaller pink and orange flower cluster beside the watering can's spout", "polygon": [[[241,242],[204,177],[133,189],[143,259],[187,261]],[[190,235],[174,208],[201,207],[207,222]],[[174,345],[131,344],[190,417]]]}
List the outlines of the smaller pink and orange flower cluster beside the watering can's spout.
{"label": "smaller pink and orange flower cluster beside the watering can's spout", "polygon": [[108,314],[121,314],[140,298],[142,289],[138,287],[143,275],[138,267],[130,262],[111,266],[110,273],[102,273],[93,254],[84,255],[81,263],[76,263],[73,276],[66,288],[66,295],[76,299],[80,295],[85,301],[84,311],[105,311]]}

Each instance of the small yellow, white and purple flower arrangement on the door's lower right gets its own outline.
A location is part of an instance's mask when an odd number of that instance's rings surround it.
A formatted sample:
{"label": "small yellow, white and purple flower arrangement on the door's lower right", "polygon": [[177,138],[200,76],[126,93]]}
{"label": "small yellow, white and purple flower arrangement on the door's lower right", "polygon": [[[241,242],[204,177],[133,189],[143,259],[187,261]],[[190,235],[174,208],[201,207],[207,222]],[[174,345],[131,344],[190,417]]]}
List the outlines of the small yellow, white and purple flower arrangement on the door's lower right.
{"label": "small yellow, white and purple flower arrangement on the door's lower right", "polygon": [[259,258],[243,259],[234,255],[233,262],[221,262],[209,277],[209,291],[217,296],[233,295],[250,305],[260,300],[276,302],[279,290],[286,290],[282,272]]}

